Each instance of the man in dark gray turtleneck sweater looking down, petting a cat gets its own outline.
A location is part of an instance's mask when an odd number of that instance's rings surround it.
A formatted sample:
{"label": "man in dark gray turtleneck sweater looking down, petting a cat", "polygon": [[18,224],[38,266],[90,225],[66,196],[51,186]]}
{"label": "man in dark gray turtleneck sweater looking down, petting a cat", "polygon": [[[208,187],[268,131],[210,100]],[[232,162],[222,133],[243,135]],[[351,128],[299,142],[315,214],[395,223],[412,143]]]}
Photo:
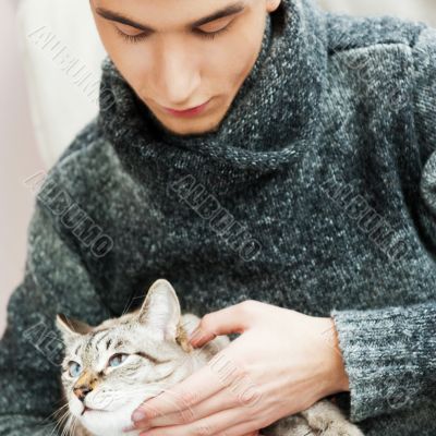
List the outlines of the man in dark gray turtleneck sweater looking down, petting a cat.
{"label": "man in dark gray turtleneck sweater looking down, petting a cat", "polygon": [[90,7],[100,112],[38,194],[0,435],[56,408],[56,313],[97,324],[158,277],[205,340],[242,334],[262,401],[198,372],[136,428],[249,435],[338,393],[367,434],[434,433],[435,31],[298,0]]}

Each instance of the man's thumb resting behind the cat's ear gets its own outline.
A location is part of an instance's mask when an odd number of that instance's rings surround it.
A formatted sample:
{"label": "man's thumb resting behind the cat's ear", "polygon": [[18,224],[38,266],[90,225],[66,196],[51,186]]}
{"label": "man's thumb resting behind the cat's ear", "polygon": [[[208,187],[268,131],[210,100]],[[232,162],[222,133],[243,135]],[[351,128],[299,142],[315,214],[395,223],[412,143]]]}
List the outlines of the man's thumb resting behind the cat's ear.
{"label": "man's thumb resting behind the cat's ear", "polygon": [[249,301],[210,312],[202,317],[198,326],[190,335],[190,342],[201,347],[219,335],[240,334],[247,329],[250,314]]}

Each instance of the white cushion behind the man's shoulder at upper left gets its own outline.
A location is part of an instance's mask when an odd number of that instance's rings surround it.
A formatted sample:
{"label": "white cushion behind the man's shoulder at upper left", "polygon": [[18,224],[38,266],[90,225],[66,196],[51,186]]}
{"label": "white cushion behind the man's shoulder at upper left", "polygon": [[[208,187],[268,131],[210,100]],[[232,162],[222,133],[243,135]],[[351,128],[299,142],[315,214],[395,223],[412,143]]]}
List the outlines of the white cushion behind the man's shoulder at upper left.
{"label": "white cushion behind the man's shoulder at upper left", "polygon": [[50,167],[98,111],[105,49],[88,1],[22,0],[17,24],[37,144]]}

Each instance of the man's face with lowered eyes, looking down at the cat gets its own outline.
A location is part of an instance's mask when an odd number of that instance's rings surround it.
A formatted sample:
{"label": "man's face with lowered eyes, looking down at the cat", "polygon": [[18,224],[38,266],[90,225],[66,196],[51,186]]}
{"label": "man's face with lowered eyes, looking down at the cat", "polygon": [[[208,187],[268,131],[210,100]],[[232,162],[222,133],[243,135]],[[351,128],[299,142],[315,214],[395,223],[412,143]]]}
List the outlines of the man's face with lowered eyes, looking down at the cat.
{"label": "man's face with lowered eyes, looking down at the cat", "polygon": [[[280,0],[90,0],[113,63],[175,134],[215,130],[261,50]],[[211,17],[217,12],[228,11]],[[208,20],[203,20],[208,17]],[[195,113],[174,113],[207,102]]]}

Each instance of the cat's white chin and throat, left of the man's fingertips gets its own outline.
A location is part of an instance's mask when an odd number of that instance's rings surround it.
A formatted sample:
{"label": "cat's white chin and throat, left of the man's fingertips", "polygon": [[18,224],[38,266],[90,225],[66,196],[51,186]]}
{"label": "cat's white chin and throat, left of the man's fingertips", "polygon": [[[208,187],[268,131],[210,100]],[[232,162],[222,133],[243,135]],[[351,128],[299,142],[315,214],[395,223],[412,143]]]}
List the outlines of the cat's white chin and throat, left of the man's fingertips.
{"label": "cat's white chin and throat, left of the man's fingertips", "polygon": [[123,428],[132,425],[131,415],[142,403],[129,403],[117,410],[87,410],[83,412],[83,405],[74,404],[72,413],[80,423],[95,436],[137,436],[140,431],[123,432]]}

